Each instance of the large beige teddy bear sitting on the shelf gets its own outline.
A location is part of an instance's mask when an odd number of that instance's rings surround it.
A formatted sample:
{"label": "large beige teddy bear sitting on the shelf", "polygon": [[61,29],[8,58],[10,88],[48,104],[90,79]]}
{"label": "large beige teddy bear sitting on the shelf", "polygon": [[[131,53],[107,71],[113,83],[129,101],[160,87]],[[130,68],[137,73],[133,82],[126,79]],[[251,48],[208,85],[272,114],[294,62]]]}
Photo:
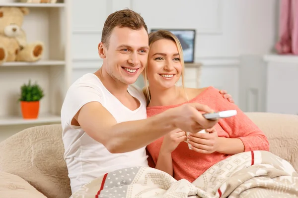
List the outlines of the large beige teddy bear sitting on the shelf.
{"label": "large beige teddy bear sitting on the shelf", "polygon": [[44,44],[40,41],[27,43],[21,28],[26,7],[0,7],[0,64],[10,61],[34,62],[41,58]]}

